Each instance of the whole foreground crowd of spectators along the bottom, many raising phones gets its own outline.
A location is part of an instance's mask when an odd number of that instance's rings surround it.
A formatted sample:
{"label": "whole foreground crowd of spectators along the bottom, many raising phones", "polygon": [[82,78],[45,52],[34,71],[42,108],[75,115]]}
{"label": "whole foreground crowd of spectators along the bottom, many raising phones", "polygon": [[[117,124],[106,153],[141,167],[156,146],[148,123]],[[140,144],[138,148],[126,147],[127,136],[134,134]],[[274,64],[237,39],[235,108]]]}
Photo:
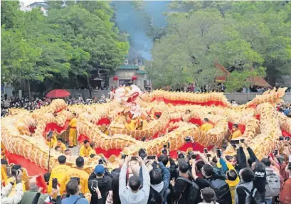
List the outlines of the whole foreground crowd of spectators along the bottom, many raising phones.
{"label": "whole foreground crowd of spectators along the bottom, many raising phones", "polygon": [[[191,139],[192,144],[194,140]],[[37,185],[37,178],[29,180],[23,190],[21,166],[14,165],[8,172],[6,160],[1,159],[1,170],[7,179],[1,188],[1,203],[197,203],[197,204],[253,204],[291,203],[290,139],[282,141],[268,157],[259,160],[248,142],[233,145],[235,156],[216,152],[177,152],[177,159],[164,149],[159,156],[122,154],[120,168],[111,172],[104,158],[89,175],[84,170],[84,159],[79,156],[75,167],[65,165],[66,154],[58,157],[59,165],[44,176],[48,189]],[[243,147],[248,151],[245,156]],[[92,154],[90,157],[94,157]],[[2,175],[2,173],[1,173]],[[10,176],[10,178],[9,178]],[[5,186],[5,187],[4,187]],[[14,188],[14,195],[9,195]]]}

